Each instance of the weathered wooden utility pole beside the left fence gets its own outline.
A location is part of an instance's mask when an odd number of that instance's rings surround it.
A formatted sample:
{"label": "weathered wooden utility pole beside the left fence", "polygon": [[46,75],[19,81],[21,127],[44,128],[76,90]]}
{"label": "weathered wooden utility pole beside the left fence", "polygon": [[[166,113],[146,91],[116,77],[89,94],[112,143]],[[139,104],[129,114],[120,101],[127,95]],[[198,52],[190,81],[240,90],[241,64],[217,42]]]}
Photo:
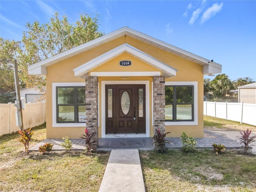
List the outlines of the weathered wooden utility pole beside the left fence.
{"label": "weathered wooden utility pole beside the left fence", "polygon": [[18,116],[19,116],[19,111],[20,111],[20,118],[21,118],[20,130],[23,130],[24,127],[23,127],[22,105],[21,105],[21,100],[20,100],[20,84],[19,84],[20,80],[19,80],[19,75],[18,75],[18,64],[17,64],[16,59],[14,59],[14,66],[12,64],[12,68],[13,68],[13,72],[14,72]]}

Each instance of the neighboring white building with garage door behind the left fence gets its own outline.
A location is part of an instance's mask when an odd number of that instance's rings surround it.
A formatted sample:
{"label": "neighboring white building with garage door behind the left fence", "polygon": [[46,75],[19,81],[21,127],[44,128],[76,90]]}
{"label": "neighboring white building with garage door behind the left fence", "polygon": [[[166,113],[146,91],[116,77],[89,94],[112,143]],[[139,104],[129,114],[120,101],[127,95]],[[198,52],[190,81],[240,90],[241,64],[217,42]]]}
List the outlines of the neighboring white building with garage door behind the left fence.
{"label": "neighboring white building with garage door behind the left fence", "polygon": [[[16,93],[16,91],[11,92],[11,94],[12,93]],[[40,92],[36,88],[23,88],[23,89],[20,89],[20,97],[26,98],[26,103],[28,103],[28,102],[35,103],[35,102],[43,102],[43,101],[45,101],[44,98],[43,98],[43,94],[44,93]]]}

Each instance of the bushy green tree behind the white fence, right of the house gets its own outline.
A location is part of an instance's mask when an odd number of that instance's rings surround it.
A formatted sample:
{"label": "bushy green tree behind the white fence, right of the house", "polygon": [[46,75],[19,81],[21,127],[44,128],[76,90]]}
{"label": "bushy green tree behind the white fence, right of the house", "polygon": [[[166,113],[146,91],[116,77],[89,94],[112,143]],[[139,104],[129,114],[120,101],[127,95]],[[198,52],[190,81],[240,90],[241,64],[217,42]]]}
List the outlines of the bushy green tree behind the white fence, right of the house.
{"label": "bushy green tree behind the white fence, right of the house", "polygon": [[226,74],[217,75],[210,82],[210,86],[213,88],[213,96],[216,98],[216,100],[224,99],[226,94],[228,94],[230,90],[234,89],[231,80]]}

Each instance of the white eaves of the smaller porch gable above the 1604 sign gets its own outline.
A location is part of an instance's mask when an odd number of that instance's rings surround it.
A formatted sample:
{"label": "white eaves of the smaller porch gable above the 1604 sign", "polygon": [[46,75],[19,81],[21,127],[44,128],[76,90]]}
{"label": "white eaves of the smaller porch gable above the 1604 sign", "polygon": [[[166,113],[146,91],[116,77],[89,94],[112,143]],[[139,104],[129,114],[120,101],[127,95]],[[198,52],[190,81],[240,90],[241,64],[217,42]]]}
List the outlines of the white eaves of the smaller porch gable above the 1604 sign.
{"label": "white eaves of the smaller porch gable above the 1604 sign", "polygon": [[[166,77],[176,76],[176,71],[177,71],[176,69],[168,66],[167,64],[157,60],[156,58],[153,58],[152,56],[128,44],[122,44],[117,48],[114,48],[113,50],[110,50],[109,52],[106,52],[105,54],[98,56],[97,58],[75,68],[74,69],[75,76],[79,76],[82,78],[89,76],[89,72],[91,70],[93,70],[94,68],[97,68],[98,66],[112,60],[113,58],[123,53],[128,53],[133,57],[138,58],[139,60],[149,64],[150,66],[153,66],[154,68],[162,71],[163,75]],[[122,75],[119,75],[119,76],[122,76]],[[150,76],[150,75],[146,75],[146,76]]]}

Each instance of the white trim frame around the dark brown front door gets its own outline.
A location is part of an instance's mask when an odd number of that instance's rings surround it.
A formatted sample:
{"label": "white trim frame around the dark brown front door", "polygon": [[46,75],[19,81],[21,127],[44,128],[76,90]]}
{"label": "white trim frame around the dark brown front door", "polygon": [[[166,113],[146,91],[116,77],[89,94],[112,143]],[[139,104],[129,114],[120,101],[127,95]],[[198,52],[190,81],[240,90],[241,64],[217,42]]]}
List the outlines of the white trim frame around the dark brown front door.
{"label": "white trim frame around the dark brown front door", "polygon": [[[106,134],[106,112],[105,112],[105,85],[108,84],[145,84],[146,86],[146,134]],[[102,138],[118,138],[118,137],[149,137],[150,136],[150,110],[149,110],[149,81],[102,81],[101,82],[101,133]]]}

